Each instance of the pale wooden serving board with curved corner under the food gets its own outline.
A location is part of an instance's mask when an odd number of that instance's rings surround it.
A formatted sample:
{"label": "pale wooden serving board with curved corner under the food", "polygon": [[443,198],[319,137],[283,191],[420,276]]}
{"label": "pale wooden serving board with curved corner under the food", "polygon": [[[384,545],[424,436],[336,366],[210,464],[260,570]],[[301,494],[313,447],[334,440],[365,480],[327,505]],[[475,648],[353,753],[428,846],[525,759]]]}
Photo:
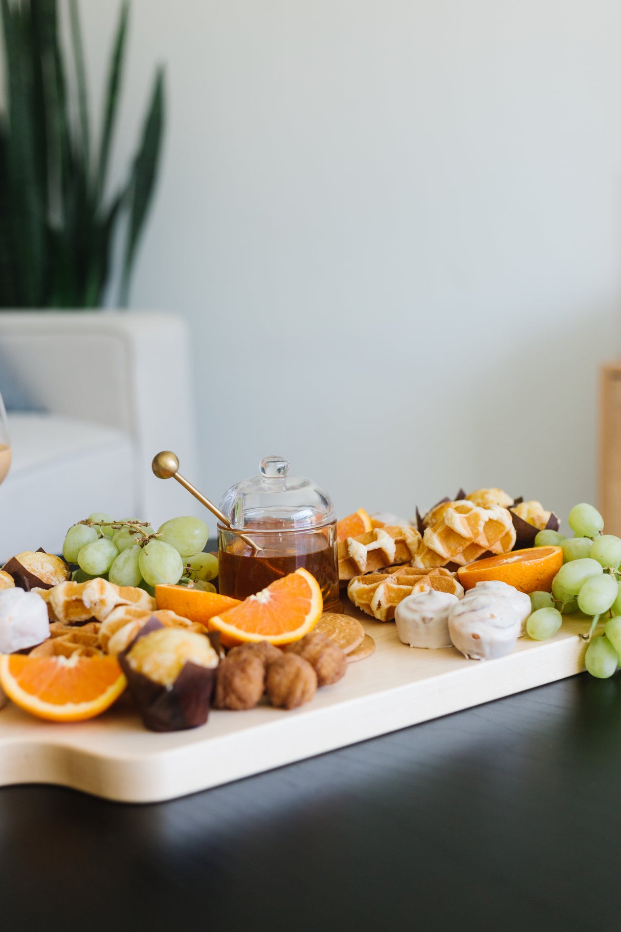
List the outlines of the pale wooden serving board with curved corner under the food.
{"label": "pale wooden serving board with curved corner under the food", "polygon": [[[377,637],[388,625],[368,621],[366,627]],[[16,734],[3,735],[2,717],[7,711],[0,712],[0,786],[47,783],[117,802],[163,802],[573,676],[585,668],[586,645],[576,637],[584,627],[584,622],[569,621],[550,641],[536,643],[525,638],[519,642],[521,649],[501,660],[484,664],[464,661],[436,676],[371,688],[342,701],[332,692],[323,704],[316,699],[292,713],[270,710],[274,719],[265,721],[263,716],[259,727],[249,723],[248,727],[210,736],[208,723],[202,737],[200,729],[172,736],[145,735],[147,747],[155,747],[155,751],[134,750],[129,733],[129,750],[120,747],[111,752],[108,747],[104,753],[98,745],[110,746],[112,740],[114,746],[114,721],[103,728],[99,725],[98,731],[89,735],[88,722],[80,726],[79,733],[65,733],[63,729],[74,726],[61,726],[59,731],[58,726],[50,728],[45,723],[44,731],[43,723],[24,727],[21,719],[20,727],[13,723]],[[390,628],[394,632],[394,625]],[[387,645],[391,653],[395,647]],[[397,649],[406,650],[401,645]],[[369,679],[370,663],[352,665],[359,671],[354,676]],[[321,692],[328,694],[338,685]],[[250,716],[257,711],[218,714]],[[25,716],[19,709],[12,712]],[[230,721],[237,725],[242,720]],[[152,738],[161,745],[150,744]],[[134,740],[140,745],[139,729]]]}

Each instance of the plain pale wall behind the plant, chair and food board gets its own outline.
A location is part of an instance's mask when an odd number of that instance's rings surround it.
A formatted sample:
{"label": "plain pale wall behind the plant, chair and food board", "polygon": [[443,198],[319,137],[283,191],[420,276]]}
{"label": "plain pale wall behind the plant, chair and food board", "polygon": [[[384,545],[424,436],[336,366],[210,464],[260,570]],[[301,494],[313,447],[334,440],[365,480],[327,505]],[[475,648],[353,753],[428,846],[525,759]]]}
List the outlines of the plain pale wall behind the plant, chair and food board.
{"label": "plain pale wall behind the plant, chair and food board", "polygon": [[208,494],[281,452],[340,514],[594,499],[620,37],[615,0],[132,0],[115,177],[156,62],[169,105],[132,304],[193,328]]}

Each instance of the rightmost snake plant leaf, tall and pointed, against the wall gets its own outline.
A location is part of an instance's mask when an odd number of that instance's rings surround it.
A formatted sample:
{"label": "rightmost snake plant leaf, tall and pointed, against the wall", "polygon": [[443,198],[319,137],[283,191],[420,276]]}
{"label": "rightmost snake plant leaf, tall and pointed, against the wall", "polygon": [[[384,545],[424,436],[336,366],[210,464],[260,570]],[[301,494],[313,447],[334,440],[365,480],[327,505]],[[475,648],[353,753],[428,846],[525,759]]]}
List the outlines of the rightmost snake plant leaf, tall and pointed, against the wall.
{"label": "rightmost snake plant leaf, tall and pointed, against the wall", "polygon": [[158,68],[151,106],[142,130],[142,142],[134,161],[125,259],[121,279],[121,306],[128,302],[129,276],[154,191],[164,129],[164,69]]}

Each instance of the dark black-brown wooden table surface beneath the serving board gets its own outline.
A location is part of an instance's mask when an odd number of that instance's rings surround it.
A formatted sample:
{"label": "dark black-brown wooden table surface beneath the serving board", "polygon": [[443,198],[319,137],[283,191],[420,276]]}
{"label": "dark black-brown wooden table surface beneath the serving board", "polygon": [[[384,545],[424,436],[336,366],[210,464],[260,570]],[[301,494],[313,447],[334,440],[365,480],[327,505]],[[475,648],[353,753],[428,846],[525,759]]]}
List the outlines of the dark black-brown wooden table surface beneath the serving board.
{"label": "dark black-brown wooden table surface beneath the serving board", "polygon": [[0,790],[3,929],[621,926],[621,676],[175,802]]}

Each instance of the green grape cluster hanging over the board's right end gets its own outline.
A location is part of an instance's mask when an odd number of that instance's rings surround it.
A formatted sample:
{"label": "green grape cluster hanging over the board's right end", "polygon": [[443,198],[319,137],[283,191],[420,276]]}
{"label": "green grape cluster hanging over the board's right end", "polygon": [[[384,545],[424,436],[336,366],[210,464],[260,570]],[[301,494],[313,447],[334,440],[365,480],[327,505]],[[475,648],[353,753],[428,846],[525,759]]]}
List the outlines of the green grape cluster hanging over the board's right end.
{"label": "green grape cluster hanging over the board's right end", "polygon": [[[562,548],[563,565],[552,581],[552,592],[533,592],[533,613],[526,631],[535,640],[552,637],[562,615],[582,611],[592,618],[585,663],[592,676],[612,677],[621,658],[621,538],[602,534],[603,518],[592,505],[574,505],[568,523],[573,538],[556,530],[541,530],[535,546]],[[605,616],[604,634],[591,637]]]}

